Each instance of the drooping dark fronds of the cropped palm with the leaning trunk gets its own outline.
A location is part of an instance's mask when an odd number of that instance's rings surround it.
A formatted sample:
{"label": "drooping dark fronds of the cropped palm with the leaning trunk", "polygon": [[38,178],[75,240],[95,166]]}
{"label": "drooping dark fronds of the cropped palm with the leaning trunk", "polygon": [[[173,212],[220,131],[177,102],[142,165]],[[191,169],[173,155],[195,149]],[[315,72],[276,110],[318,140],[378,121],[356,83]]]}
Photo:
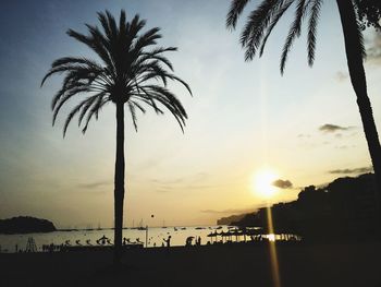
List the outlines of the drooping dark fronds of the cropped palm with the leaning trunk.
{"label": "drooping dark fronds of the cropped palm with the leaning trunk", "polygon": [[[285,63],[288,52],[294,44],[294,40],[300,36],[302,25],[304,20],[308,21],[307,27],[307,51],[308,64],[311,67],[315,61],[317,25],[320,15],[320,10],[323,0],[263,0],[256,10],[251,11],[247,17],[247,22],[241,34],[241,45],[246,50],[245,60],[253,60],[259,51],[259,57],[262,56],[266,43],[271,35],[271,32],[284,15],[284,13],[295,4],[295,17],[292,22],[288,34],[286,36],[280,69],[284,73]],[[237,20],[248,0],[233,0],[226,17],[226,26],[235,28]],[[362,57],[365,57],[364,40],[361,34],[361,25],[357,23],[357,40],[360,45]]]}

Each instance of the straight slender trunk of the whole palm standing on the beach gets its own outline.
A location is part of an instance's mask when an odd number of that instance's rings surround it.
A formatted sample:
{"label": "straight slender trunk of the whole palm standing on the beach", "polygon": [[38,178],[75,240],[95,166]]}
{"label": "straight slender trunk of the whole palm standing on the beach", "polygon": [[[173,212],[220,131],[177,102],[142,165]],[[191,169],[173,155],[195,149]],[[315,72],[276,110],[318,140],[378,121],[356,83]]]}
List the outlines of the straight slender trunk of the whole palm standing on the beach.
{"label": "straight slender trunk of the whole palm standing on the beach", "polygon": [[124,201],[124,105],[116,103],[116,158],[114,178],[114,264],[122,260],[123,201]]}

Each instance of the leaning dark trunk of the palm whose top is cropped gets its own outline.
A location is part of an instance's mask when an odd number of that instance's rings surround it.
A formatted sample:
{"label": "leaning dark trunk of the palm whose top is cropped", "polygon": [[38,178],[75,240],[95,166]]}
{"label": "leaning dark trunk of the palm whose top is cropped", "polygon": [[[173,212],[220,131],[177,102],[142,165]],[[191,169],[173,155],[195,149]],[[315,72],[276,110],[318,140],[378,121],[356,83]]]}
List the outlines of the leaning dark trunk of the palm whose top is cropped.
{"label": "leaning dark trunk of the palm whose top is cropped", "polygon": [[[345,51],[351,81],[357,96],[357,105],[361,116],[362,128],[373,164],[377,180],[379,215],[381,216],[381,146],[367,93],[367,80],[362,64],[361,46],[357,34],[358,26],[356,13],[352,0],[336,0],[336,3],[344,33]],[[379,219],[381,219],[381,217],[379,217]]]}

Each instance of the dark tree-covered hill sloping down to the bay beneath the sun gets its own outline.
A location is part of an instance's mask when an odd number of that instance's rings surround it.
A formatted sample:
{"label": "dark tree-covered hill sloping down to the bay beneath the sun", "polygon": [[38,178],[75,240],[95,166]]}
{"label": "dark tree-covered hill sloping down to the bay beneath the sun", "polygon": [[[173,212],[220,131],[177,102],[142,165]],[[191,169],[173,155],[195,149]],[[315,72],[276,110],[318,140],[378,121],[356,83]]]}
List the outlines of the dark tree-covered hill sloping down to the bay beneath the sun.
{"label": "dark tree-covered hill sloping down to the bay beneath the sun", "polygon": [[308,240],[370,239],[378,235],[378,200],[373,174],[339,178],[325,187],[304,188],[297,200],[242,216],[230,224],[297,234]]}

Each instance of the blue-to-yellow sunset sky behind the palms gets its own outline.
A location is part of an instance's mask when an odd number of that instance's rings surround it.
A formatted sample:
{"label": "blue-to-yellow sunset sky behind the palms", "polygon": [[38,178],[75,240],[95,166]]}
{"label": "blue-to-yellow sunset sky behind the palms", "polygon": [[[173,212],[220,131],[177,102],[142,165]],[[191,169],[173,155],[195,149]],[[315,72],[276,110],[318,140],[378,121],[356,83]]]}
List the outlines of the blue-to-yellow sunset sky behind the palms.
{"label": "blue-to-yellow sunset sky behind the palms", "polygon": [[[303,187],[370,170],[370,158],[347,73],[337,9],[324,1],[317,57],[307,64],[305,33],[293,46],[285,74],[280,55],[293,11],[269,38],[263,57],[244,61],[239,31],[225,28],[230,0],[4,0],[0,10],[0,218],[29,215],[59,228],[113,225],[115,108],[109,105],[86,134],[71,124],[62,136],[50,103],[62,77],[40,81],[63,56],[94,57],[70,38],[86,33],[108,9],[139,14],[159,26],[175,74],[194,96],[170,85],[189,119],[182,133],[171,115],[153,111],[126,127],[124,225],[211,225],[297,198]],[[305,29],[304,29],[305,32]],[[381,36],[365,32],[368,93],[381,130]],[[75,100],[73,101],[75,104]],[[73,105],[72,103],[72,105]],[[263,198],[253,182],[273,170],[287,184]],[[153,217],[151,217],[153,215]]]}

